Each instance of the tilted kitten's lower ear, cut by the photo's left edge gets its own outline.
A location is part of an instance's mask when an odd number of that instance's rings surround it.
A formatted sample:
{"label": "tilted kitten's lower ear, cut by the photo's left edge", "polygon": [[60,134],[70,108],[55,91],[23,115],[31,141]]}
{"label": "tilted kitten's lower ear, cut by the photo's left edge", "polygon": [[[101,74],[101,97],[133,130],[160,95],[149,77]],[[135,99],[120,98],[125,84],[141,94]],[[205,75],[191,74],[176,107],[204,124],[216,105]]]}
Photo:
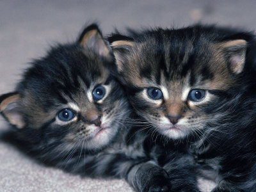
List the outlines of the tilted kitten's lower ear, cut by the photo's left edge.
{"label": "tilted kitten's lower ear, cut by the photo's left edge", "polygon": [[20,110],[19,93],[7,93],[0,96],[0,112],[15,127],[22,129],[25,125],[24,116]]}

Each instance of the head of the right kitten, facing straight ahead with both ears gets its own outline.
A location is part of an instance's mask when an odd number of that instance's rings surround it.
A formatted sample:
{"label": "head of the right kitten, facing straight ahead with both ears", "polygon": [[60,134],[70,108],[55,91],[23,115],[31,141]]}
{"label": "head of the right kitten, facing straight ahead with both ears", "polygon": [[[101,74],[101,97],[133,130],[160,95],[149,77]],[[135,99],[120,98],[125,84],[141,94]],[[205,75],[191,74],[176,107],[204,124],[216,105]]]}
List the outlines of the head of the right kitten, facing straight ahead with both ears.
{"label": "head of the right kitten, facing straight ahead with both ears", "polygon": [[[134,109],[161,134],[178,139],[200,133],[231,113],[243,90],[240,79],[251,38],[193,26],[117,34],[109,42]],[[225,113],[221,110],[227,103]]]}

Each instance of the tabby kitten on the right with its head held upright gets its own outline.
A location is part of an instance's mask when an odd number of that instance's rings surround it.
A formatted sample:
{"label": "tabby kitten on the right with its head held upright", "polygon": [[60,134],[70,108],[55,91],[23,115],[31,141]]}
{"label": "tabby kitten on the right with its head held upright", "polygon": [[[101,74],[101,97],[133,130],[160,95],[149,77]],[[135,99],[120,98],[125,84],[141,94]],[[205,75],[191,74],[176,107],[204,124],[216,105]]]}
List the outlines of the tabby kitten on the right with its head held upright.
{"label": "tabby kitten on the right with its head held upright", "polygon": [[179,178],[171,166],[182,168],[181,150],[192,175],[214,171],[212,191],[256,191],[255,36],[196,25],[109,42],[132,106],[177,153],[163,165],[170,177]]}

